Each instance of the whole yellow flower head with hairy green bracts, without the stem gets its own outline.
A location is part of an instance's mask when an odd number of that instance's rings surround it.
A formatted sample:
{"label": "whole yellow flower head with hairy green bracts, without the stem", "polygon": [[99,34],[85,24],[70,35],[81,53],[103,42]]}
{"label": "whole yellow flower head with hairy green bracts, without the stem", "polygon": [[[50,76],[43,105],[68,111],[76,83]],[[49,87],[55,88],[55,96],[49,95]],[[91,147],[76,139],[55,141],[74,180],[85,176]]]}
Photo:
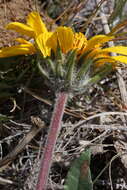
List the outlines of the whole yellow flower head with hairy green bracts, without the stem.
{"label": "whole yellow flower head with hairy green bracts, without the stem", "polygon": [[60,83],[69,88],[78,86],[78,89],[82,89],[86,84],[100,80],[120,62],[127,64],[127,47],[106,47],[107,42],[116,38],[113,33],[87,39],[83,33],[74,32],[67,26],[48,31],[38,12],[31,12],[26,24],[12,22],[7,25],[7,29],[33,38],[33,43],[17,39],[19,45],[0,49],[0,57],[37,53],[42,74],[48,79],[54,76],[55,83],[58,78]]}

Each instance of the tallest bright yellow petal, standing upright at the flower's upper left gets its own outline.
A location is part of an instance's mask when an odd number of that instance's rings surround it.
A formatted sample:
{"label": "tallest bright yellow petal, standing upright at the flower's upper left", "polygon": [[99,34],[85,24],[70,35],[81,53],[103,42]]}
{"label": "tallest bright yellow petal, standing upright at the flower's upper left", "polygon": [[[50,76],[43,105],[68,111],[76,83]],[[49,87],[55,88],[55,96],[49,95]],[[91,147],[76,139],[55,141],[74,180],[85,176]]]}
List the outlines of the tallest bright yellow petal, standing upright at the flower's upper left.
{"label": "tallest bright yellow petal, standing upright at the flower's upper left", "polygon": [[48,32],[38,12],[31,12],[28,15],[27,25],[30,26],[35,31],[36,36],[38,36],[43,32]]}

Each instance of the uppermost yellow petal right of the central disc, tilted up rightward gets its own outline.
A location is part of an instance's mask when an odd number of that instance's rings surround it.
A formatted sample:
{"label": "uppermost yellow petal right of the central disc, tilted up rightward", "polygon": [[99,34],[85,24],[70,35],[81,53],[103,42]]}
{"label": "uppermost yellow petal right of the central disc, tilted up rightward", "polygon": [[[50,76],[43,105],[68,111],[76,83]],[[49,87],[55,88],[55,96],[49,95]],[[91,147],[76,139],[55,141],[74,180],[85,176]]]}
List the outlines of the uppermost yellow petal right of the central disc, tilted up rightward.
{"label": "uppermost yellow petal right of the central disc, tilted up rightward", "polygon": [[89,51],[93,49],[95,46],[100,46],[101,44],[104,44],[110,40],[112,40],[113,36],[106,36],[106,35],[96,35],[92,37],[90,40],[88,40],[88,45],[86,47],[85,51]]}

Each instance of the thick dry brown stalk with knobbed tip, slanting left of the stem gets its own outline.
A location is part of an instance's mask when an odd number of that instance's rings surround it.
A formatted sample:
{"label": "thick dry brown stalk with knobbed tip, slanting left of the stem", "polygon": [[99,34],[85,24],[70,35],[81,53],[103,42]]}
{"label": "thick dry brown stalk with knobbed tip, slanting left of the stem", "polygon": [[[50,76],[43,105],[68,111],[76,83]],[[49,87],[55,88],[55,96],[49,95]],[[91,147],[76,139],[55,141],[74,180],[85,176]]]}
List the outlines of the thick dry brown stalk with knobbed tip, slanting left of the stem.
{"label": "thick dry brown stalk with knobbed tip, slanting left of the stem", "polygon": [[33,127],[19,144],[5,158],[0,161],[0,167],[3,167],[12,162],[16,156],[25,148],[25,146],[37,135],[37,133],[45,127],[44,122],[40,118],[32,117]]}

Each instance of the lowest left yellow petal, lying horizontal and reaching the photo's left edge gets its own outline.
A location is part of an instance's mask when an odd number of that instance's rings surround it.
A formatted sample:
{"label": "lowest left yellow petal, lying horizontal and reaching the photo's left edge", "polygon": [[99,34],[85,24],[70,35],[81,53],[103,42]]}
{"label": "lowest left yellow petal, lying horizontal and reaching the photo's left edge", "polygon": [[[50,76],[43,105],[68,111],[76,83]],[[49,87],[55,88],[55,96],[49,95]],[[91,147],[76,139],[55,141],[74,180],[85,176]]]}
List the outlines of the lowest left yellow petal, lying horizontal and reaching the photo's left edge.
{"label": "lowest left yellow petal, lying horizontal and reaching the photo's left edge", "polygon": [[33,45],[21,44],[0,49],[0,58],[16,55],[34,54],[36,52]]}

